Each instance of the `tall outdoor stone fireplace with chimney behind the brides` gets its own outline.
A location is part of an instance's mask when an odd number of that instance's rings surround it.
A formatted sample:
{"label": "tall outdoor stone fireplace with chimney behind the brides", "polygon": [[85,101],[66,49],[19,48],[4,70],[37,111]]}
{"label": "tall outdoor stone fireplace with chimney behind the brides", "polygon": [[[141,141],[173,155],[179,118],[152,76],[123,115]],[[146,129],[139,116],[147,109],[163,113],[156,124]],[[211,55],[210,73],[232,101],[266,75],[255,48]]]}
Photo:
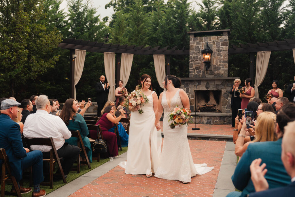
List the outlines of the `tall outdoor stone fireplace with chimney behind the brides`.
{"label": "tall outdoor stone fireplace with chimney behind the brides", "polygon": [[[189,95],[192,114],[196,115],[196,122],[199,124],[231,124],[230,90],[237,77],[228,77],[230,30],[188,33],[189,77],[181,78],[181,87]],[[206,71],[201,50],[206,47],[207,42],[213,53],[211,66]]]}

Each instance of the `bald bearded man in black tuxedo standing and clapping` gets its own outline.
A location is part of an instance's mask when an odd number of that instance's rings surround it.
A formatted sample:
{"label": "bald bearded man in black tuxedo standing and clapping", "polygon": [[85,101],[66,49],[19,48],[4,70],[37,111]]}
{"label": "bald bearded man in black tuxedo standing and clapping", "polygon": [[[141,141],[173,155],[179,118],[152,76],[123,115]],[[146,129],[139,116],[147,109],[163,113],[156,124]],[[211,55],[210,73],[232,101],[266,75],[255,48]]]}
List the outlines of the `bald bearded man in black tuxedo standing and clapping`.
{"label": "bald bearded man in black tuxedo standing and clapping", "polygon": [[104,80],[105,80],[105,77],[101,75],[99,78],[99,82],[95,84],[96,101],[97,101],[97,117],[100,116],[100,112],[102,108],[104,107],[104,104],[108,100],[109,83],[105,83]]}

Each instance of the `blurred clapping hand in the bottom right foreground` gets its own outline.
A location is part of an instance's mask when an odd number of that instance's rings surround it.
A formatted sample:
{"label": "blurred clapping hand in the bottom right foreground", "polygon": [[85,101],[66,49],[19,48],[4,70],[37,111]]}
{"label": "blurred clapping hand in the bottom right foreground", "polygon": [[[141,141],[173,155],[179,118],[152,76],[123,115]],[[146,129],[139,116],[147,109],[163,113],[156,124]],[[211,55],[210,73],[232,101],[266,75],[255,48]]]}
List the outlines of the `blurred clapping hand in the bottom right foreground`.
{"label": "blurred clapping hand in the bottom right foreground", "polygon": [[266,164],[263,163],[260,166],[261,161],[262,160],[260,158],[254,159],[250,165],[251,180],[256,192],[267,190],[269,187],[267,180],[264,178],[264,175],[267,172],[267,169],[265,169]]}

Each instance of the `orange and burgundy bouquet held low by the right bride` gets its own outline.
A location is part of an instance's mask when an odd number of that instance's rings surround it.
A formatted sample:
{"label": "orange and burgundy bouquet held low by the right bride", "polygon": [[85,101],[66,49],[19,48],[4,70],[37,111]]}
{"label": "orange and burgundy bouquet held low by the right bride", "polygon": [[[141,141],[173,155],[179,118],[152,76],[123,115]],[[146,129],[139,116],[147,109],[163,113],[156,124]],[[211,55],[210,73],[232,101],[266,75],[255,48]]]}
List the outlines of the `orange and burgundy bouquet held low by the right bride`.
{"label": "orange and burgundy bouquet held low by the right bride", "polygon": [[191,110],[185,108],[179,108],[178,105],[175,106],[173,111],[169,114],[168,122],[172,121],[169,124],[170,128],[174,129],[176,125],[188,125],[188,123],[193,123],[190,118],[193,118],[191,115]]}

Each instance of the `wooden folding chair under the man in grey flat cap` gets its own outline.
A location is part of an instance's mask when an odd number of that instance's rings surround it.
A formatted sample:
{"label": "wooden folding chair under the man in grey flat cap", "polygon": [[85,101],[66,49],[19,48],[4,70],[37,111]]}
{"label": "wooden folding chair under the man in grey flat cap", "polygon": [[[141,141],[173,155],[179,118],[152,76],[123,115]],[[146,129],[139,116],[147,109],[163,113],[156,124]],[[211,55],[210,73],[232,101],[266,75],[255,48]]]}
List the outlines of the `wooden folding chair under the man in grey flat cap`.
{"label": "wooden folding chair under the man in grey flat cap", "polygon": [[[14,176],[11,175],[11,169],[9,165],[9,161],[6,155],[6,152],[4,149],[0,149],[0,159],[2,159],[2,169],[1,169],[1,197],[4,197],[4,195],[9,195],[9,196],[19,196],[21,197],[21,193],[19,191],[19,187],[17,185],[17,181]],[[6,171],[8,174],[6,174]],[[5,180],[10,178],[12,180],[12,184],[14,185],[15,191],[10,192],[10,191],[5,191]]]}

